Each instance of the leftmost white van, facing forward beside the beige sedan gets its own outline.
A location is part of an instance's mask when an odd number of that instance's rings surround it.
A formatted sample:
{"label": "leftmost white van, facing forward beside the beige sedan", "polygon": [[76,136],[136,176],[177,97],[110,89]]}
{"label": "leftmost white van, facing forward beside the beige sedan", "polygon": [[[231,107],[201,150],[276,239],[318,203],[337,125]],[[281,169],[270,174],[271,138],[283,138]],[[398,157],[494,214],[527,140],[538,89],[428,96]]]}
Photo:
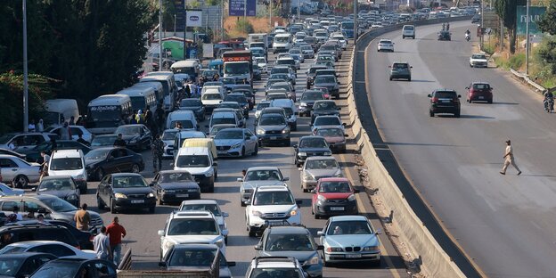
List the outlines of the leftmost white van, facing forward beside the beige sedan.
{"label": "leftmost white van, facing forward beside the beige sedan", "polygon": [[79,192],[87,190],[85,157],[81,150],[54,150],[48,162],[48,176],[71,176]]}

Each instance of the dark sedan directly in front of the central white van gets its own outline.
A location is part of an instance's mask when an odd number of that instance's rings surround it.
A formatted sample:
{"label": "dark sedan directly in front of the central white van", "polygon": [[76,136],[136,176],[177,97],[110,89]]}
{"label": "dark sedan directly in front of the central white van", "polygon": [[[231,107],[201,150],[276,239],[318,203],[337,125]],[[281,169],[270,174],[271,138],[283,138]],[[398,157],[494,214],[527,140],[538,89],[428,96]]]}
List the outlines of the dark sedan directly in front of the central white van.
{"label": "dark sedan directly in front of the central white van", "polygon": [[160,171],[152,179],[159,204],[200,199],[200,187],[187,171]]}

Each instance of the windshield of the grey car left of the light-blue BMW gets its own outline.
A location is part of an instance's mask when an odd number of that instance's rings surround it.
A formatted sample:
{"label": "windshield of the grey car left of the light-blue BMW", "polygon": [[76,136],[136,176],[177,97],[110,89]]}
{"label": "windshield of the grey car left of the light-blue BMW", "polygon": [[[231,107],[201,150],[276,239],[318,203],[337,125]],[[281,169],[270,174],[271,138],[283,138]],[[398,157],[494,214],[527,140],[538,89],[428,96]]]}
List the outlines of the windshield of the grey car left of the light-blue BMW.
{"label": "windshield of the grey car left of the light-blue BMW", "polygon": [[306,233],[269,234],[266,238],[266,251],[312,251],[313,241]]}

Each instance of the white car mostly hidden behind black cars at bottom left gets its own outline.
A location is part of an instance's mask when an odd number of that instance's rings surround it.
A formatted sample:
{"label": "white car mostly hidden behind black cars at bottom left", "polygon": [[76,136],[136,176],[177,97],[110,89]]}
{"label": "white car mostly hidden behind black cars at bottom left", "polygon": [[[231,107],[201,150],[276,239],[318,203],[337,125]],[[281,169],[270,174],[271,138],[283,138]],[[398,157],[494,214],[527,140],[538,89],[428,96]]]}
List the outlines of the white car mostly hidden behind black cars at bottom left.
{"label": "white car mostly hidden behind black cars at bottom left", "polygon": [[0,255],[24,252],[49,253],[58,258],[96,258],[94,250],[80,250],[60,241],[20,241],[0,249]]}

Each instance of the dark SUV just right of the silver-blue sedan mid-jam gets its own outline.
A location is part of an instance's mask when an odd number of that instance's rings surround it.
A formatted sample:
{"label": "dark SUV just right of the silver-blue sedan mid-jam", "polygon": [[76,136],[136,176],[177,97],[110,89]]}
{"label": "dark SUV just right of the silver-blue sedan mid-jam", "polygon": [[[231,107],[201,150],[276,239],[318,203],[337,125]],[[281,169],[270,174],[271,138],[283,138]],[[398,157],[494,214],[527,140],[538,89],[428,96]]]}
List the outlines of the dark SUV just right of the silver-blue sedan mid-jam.
{"label": "dark SUV just right of the silver-blue sedan mid-jam", "polygon": [[256,133],[259,145],[282,143],[290,146],[290,126],[282,114],[268,113],[260,116]]}

